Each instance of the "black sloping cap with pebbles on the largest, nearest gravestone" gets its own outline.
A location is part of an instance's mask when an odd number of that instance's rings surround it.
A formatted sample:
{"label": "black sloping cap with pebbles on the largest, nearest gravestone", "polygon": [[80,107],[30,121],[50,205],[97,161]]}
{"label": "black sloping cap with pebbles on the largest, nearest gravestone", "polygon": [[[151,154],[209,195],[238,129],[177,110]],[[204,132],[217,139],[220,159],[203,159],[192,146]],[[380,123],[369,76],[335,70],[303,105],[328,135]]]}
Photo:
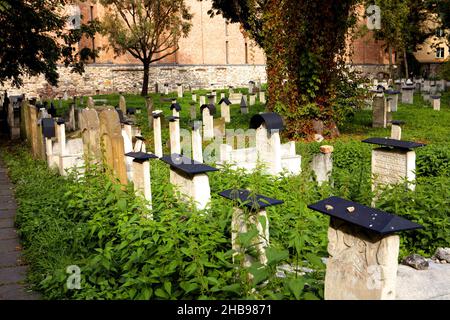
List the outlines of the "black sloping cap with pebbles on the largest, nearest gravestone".
{"label": "black sloping cap with pebbles on the largest, nearest gravestone", "polygon": [[397,215],[339,197],[327,198],[308,208],[381,235],[423,228]]}

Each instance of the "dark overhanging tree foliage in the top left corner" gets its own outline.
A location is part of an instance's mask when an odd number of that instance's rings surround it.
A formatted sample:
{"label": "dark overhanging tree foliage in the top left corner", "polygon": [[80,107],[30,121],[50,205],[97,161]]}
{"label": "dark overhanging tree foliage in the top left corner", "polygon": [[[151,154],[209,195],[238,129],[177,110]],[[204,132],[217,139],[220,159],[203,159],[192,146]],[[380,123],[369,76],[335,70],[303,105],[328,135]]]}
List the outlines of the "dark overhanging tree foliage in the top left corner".
{"label": "dark overhanging tree foliage in the top left corner", "polygon": [[52,85],[58,82],[57,64],[82,73],[96,50],[77,51],[82,37],[92,37],[96,21],[77,30],[65,30],[67,17],[58,13],[66,0],[5,0],[0,3],[0,84],[23,84],[23,76],[43,74]]}

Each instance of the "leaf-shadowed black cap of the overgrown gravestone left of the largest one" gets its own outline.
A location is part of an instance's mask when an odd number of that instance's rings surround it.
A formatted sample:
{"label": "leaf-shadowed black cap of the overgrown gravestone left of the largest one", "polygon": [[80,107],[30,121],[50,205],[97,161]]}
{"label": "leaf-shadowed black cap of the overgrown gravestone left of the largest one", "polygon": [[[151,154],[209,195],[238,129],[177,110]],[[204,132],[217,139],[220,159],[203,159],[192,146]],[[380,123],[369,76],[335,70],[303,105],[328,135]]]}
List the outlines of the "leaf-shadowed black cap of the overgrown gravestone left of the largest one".
{"label": "leaf-shadowed black cap of the overgrown gravestone left of the largest one", "polygon": [[220,192],[219,195],[233,201],[238,201],[241,205],[244,205],[250,210],[264,209],[284,203],[284,201],[255,194],[245,189],[229,189]]}

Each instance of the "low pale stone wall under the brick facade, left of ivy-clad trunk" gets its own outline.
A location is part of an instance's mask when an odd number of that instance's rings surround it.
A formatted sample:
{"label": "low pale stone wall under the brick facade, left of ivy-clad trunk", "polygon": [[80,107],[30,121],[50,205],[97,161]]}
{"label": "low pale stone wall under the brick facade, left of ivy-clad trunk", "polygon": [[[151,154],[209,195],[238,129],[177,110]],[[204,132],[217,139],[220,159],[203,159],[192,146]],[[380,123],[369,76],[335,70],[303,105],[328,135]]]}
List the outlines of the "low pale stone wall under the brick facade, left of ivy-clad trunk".
{"label": "low pale stone wall under the brick facade, left of ivy-clad trunk", "polygon": [[[139,65],[97,64],[86,67],[82,75],[71,73],[70,69],[59,68],[59,86],[52,87],[42,76],[24,79],[20,89],[4,87],[10,94],[25,92],[27,96],[57,96],[65,92],[69,96],[92,95],[123,91],[138,93],[141,91],[143,68]],[[168,83],[171,91],[176,84],[182,83],[193,88],[209,88],[212,84],[218,88],[247,86],[250,80],[267,82],[265,65],[157,65],[150,68],[149,91],[155,91],[155,84]]]}

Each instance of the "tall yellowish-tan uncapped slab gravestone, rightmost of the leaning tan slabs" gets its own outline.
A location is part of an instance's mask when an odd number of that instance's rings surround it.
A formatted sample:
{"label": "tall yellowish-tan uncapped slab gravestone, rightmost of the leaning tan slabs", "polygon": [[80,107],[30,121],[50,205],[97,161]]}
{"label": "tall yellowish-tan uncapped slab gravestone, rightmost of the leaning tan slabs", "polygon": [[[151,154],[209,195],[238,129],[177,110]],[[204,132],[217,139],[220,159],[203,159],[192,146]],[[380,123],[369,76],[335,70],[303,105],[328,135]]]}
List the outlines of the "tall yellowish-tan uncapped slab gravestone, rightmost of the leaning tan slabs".
{"label": "tall yellowish-tan uncapped slab gravestone, rightmost of the leaning tan slabs", "polygon": [[100,142],[105,164],[112,170],[113,177],[125,185],[127,169],[125,166],[125,150],[119,114],[114,109],[99,112]]}

